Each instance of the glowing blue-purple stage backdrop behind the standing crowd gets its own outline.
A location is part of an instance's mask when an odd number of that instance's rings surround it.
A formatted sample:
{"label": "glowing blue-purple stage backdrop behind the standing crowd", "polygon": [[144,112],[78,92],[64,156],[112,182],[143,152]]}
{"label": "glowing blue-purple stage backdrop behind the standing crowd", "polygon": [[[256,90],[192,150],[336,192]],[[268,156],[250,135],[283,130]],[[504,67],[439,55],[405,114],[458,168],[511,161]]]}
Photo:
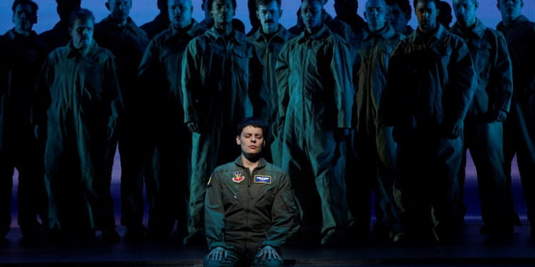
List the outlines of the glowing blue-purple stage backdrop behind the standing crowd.
{"label": "glowing blue-purple stage backdrop behind the standing crowd", "polygon": [[[56,14],[56,1],[54,0],[34,0],[39,4],[38,11],[38,23],[34,25],[34,31],[41,33],[43,31],[51,29],[59,20],[59,16]],[[208,1],[208,0],[207,0]],[[249,11],[247,8],[247,0],[237,0],[238,9],[236,11],[236,18],[240,19],[245,23],[246,32],[250,31],[250,22],[249,22]],[[452,0],[447,0],[449,4],[452,4]],[[197,21],[202,21],[204,19],[204,13],[200,9],[202,3],[201,0],[192,0],[193,2],[193,18]],[[358,14],[364,17],[365,11],[365,0],[360,0],[360,9]],[[410,0],[412,3],[412,0]],[[12,11],[11,0],[1,0],[0,1],[0,34],[9,31],[13,27],[12,23]],[[108,16],[109,11],[106,9],[105,0],[82,0],[82,7],[85,9],[90,9],[93,11],[93,14],[96,17],[96,21],[101,21],[101,19]],[[334,10],[334,0],[327,2],[325,10],[331,14],[331,16],[336,16]],[[501,21],[499,10],[496,8],[496,0],[479,0],[479,10],[477,11],[477,16],[481,21],[483,21],[486,26],[495,28],[496,24]],[[297,15],[295,14],[297,9],[299,9],[300,0],[282,0],[282,10],[284,11],[281,18],[281,23],[286,28],[290,28],[295,25],[297,20]],[[143,23],[152,21],[159,11],[156,6],[156,0],[133,0],[133,7],[131,9],[131,18],[141,26]],[[535,0],[524,0],[524,9],[523,14],[531,21],[535,21]],[[455,21],[455,18],[454,18]],[[417,20],[412,16],[412,20],[409,23],[414,28],[417,26]],[[229,140],[233,142],[233,140]],[[518,169],[516,167],[516,160],[514,161],[513,166],[513,190],[514,190],[514,201],[516,206],[516,211],[521,216],[522,221],[526,222],[526,206],[524,204],[524,197],[521,192],[521,182],[519,179]],[[13,226],[16,226],[16,185],[18,184],[18,174],[14,176],[14,189],[13,189],[13,215],[14,221]],[[120,178],[121,178],[121,162],[119,162],[119,155],[116,154],[115,164],[113,166],[113,176],[112,176],[112,187],[111,191],[113,194],[113,199],[115,201],[116,208],[116,217],[119,219],[121,211],[121,198],[120,198]],[[350,189],[349,189],[350,190]],[[477,180],[476,180],[476,171],[472,160],[469,158],[469,163],[467,164],[467,184],[466,184],[466,194],[464,201],[467,203],[467,221],[474,221],[479,223],[481,220],[480,216],[480,207],[479,207],[479,194],[477,192]],[[372,209],[373,212],[373,209]],[[145,216],[145,220],[147,215]]]}

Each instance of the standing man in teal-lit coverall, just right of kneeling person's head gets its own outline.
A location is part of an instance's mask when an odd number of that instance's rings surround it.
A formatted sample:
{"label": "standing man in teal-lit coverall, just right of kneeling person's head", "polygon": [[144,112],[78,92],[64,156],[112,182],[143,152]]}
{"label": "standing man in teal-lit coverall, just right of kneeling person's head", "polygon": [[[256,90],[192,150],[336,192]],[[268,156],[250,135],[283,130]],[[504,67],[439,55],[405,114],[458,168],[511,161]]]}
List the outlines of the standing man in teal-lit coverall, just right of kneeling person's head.
{"label": "standing man in teal-lit coverall, just right of kneeling person's head", "polygon": [[[301,4],[306,31],[287,41],[277,61],[282,169],[295,186],[300,219],[288,243],[322,234],[337,246],[347,226],[345,138],[354,102],[349,46],[322,23],[321,0]],[[317,199],[322,207],[312,204]],[[317,215],[316,217],[314,215]],[[323,221],[319,231],[320,221]],[[289,237],[290,238],[290,237]]]}

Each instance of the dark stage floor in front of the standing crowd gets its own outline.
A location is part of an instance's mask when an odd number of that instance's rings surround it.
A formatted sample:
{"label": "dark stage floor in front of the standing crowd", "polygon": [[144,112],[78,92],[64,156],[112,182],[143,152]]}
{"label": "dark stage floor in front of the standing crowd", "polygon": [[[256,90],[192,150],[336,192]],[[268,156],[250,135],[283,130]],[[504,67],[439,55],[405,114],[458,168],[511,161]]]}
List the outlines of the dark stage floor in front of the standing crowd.
{"label": "dark stage floor in front of the standing crowd", "polygon": [[[530,226],[515,228],[501,241],[479,234],[478,224],[462,227],[452,246],[396,246],[370,241],[344,248],[286,247],[286,266],[535,266],[535,239]],[[123,236],[124,228],[118,227]],[[100,232],[97,232],[99,234]],[[24,244],[18,228],[0,246],[0,265],[9,266],[202,266],[205,246],[182,246],[172,236],[164,243]]]}

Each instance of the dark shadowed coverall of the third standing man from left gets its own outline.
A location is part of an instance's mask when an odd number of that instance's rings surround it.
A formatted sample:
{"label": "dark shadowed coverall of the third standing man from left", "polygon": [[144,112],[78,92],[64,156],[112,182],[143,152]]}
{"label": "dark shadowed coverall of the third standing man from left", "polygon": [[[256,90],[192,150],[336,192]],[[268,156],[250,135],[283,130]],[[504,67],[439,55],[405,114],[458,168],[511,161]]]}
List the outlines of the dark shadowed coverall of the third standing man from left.
{"label": "dark shadowed coverall of the third standing man from left", "polygon": [[[139,93],[137,73],[148,46],[148,38],[145,31],[138,28],[130,17],[125,26],[119,27],[111,15],[95,24],[93,38],[99,46],[113,53],[118,67],[119,88],[124,105],[121,130],[118,132],[121,155],[121,224],[127,227],[129,234],[134,229],[143,229],[143,172],[148,159],[148,144],[144,118],[146,114],[141,111],[144,103]],[[149,196],[152,194],[153,192],[148,193]]]}

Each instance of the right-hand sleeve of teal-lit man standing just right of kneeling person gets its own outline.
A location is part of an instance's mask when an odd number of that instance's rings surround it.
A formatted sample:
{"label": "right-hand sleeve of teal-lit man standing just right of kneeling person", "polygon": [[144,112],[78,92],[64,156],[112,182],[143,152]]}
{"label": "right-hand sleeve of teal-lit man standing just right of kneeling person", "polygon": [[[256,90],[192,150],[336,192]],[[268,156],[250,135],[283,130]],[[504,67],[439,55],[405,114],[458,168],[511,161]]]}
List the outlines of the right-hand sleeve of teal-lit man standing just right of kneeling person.
{"label": "right-hand sleeve of teal-lit man standing just right of kneeling person", "polygon": [[351,54],[345,41],[335,41],[334,51],[330,70],[335,78],[335,103],[338,108],[337,120],[338,128],[351,127],[351,115],[353,112],[353,102],[355,99],[355,89],[352,83]]}

